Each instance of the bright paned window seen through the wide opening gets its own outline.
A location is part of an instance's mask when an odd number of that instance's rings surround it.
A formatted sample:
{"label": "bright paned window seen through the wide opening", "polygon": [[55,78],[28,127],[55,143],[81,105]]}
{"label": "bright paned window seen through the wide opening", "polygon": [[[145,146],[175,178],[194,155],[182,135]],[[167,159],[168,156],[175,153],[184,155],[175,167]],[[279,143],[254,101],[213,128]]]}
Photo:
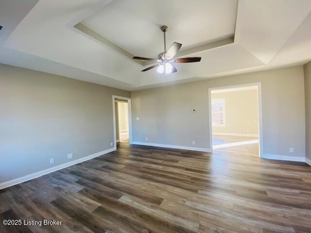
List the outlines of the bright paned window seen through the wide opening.
{"label": "bright paned window seen through the wide opening", "polygon": [[212,125],[225,127],[225,98],[212,99]]}

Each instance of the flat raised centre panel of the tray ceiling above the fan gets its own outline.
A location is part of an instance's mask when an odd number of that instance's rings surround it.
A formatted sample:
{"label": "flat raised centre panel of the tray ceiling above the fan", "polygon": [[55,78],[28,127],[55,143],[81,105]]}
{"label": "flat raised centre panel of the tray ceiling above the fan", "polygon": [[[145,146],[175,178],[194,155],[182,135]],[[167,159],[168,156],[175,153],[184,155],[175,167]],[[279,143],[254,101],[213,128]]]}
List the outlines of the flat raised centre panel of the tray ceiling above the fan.
{"label": "flat raised centre panel of the tray ceiling above the fan", "polygon": [[164,50],[160,26],[169,26],[167,46],[182,49],[233,36],[237,0],[113,0],[82,21],[134,55],[156,57]]}

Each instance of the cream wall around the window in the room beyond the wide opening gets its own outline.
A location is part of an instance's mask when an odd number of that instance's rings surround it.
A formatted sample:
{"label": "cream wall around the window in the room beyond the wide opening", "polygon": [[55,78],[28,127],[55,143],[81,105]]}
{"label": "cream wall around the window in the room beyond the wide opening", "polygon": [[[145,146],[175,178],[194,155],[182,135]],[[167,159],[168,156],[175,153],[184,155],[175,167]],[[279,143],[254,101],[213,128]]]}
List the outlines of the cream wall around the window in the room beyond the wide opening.
{"label": "cream wall around the window in the room beyond the wide opening", "polygon": [[225,127],[213,126],[213,133],[258,134],[257,90],[212,93],[211,99],[225,99]]}

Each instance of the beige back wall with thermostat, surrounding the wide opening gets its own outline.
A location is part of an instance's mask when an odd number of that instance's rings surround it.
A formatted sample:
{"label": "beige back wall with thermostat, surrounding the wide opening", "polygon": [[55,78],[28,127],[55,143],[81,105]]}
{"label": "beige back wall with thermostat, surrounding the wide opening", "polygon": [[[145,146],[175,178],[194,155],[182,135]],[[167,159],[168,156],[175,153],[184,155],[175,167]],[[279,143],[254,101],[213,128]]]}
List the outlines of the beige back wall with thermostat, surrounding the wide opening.
{"label": "beige back wall with thermostat, surrounding the wide opening", "polygon": [[302,66],[132,92],[133,141],[209,149],[208,88],[245,83],[261,83],[263,153],[305,157]]}

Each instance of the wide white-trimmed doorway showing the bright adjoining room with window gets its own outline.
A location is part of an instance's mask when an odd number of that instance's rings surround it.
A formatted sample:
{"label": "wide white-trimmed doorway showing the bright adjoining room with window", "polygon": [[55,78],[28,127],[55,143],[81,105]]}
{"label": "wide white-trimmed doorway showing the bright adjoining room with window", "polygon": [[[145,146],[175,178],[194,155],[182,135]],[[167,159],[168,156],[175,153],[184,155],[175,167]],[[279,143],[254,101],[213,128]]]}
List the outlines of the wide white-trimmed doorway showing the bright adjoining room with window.
{"label": "wide white-trimmed doorway showing the bright adjoining room with window", "polygon": [[262,153],[261,85],[209,88],[209,132],[212,151]]}

